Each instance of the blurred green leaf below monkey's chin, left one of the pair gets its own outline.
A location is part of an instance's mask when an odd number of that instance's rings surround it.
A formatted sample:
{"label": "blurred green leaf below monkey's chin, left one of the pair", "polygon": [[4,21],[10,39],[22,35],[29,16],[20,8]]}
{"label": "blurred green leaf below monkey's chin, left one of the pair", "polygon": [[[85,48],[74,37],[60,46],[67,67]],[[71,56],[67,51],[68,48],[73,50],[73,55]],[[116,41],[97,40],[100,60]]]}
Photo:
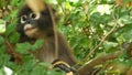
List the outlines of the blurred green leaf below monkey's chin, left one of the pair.
{"label": "blurred green leaf below monkey's chin, left one of the pair", "polygon": [[15,51],[22,54],[26,54],[28,51],[31,49],[31,44],[25,42],[25,43],[18,43]]}

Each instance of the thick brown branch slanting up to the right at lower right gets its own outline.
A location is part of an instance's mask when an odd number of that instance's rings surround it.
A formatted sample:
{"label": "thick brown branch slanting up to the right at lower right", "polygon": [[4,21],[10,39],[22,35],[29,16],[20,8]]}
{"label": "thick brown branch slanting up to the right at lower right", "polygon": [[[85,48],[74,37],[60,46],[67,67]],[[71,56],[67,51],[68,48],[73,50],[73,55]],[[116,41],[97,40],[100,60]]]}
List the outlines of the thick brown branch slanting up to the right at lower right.
{"label": "thick brown branch slanting up to the right at lower right", "polygon": [[116,53],[109,53],[107,55],[102,55],[100,57],[97,57],[95,60],[92,60],[90,63],[81,66],[79,69],[78,69],[78,74],[79,75],[89,75],[91,74],[92,72],[92,68],[96,66],[96,65],[99,65],[103,62],[107,62],[107,61],[110,61],[110,60],[114,60],[117,58],[121,53],[123,53],[123,51],[118,51]]}

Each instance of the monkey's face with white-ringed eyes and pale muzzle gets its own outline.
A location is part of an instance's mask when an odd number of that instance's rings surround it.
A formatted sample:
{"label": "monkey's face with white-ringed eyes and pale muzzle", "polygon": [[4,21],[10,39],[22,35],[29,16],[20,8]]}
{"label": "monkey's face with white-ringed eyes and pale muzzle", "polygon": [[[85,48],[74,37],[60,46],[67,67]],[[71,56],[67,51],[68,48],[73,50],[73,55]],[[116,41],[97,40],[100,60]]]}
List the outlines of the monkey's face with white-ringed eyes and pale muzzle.
{"label": "monkey's face with white-ringed eyes and pale muzzle", "polygon": [[40,13],[29,13],[23,14],[20,18],[20,23],[23,25],[23,31],[28,36],[33,38],[34,35],[37,35],[37,21],[40,19]]}

